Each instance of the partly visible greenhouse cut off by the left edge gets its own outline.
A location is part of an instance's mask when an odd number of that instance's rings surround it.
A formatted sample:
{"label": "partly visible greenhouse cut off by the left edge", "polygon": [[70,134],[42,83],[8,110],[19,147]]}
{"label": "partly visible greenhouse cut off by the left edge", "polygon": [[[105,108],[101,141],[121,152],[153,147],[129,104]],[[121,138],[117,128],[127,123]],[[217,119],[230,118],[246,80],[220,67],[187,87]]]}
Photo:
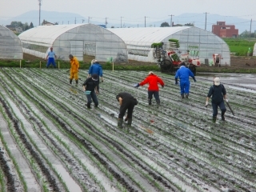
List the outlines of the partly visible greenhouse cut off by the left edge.
{"label": "partly visible greenhouse cut off by the left edge", "polygon": [[0,26],[0,58],[23,58],[22,42],[5,26]]}

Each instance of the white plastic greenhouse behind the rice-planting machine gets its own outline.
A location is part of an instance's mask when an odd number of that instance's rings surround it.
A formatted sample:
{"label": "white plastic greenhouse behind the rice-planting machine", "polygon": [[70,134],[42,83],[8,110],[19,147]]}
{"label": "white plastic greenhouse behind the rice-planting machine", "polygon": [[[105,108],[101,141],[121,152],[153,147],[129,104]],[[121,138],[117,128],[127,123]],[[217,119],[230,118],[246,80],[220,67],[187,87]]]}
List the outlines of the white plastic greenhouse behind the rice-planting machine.
{"label": "white plastic greenhouse behind the rice-planting machine", "polygon": [[230,49],[226,42],[209,31],[194,26],[146,27],[146,28],[111,28],[126,42],[128,58],[142,62],[156,62],[153,43],[163,45],[170,39],[177,39],[178,49],[174,50],[180,57],[189,53],[201,63],[214,65],[214,56],[219,55],[220,64],[230,66]]}

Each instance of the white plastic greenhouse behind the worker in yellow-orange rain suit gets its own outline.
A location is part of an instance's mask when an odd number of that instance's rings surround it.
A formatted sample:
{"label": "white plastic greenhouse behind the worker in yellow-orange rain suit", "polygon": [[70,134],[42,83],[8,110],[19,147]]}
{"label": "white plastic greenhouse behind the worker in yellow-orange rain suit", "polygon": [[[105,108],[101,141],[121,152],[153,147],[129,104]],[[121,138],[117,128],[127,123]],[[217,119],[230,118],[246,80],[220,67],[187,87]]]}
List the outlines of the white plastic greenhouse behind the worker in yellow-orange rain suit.
{"label": "white plastic greenhouse behind the worker in yellow-orange rain suit", "polygon": [[128,62],[126,43],[116,34],[93,24],[37,26],[18,36],[23,52],[46,58],[53,46],[58,59],[69,60],[73,54],[79,61],[93,56],[98,61]]}

